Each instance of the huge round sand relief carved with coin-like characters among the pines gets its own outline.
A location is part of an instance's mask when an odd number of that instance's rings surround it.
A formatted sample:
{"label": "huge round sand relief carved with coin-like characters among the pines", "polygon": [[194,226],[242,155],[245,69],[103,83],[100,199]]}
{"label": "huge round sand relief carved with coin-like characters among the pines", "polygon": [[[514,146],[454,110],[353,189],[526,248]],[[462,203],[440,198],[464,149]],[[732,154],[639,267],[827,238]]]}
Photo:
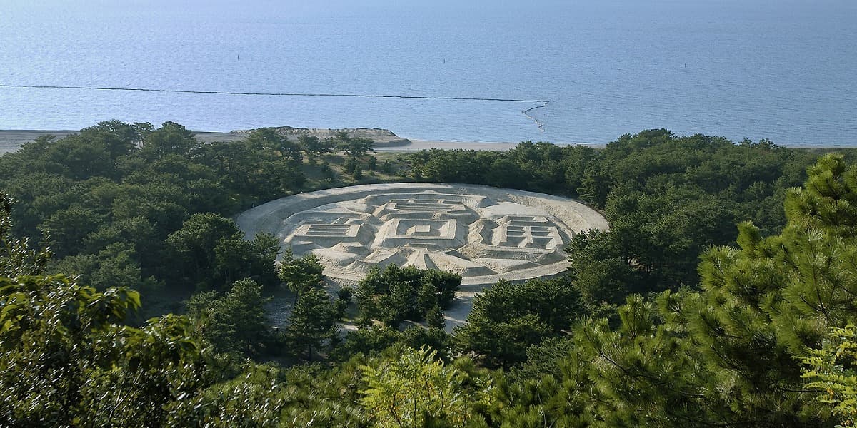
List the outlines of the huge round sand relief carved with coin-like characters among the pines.
{"label": "huge round sand relief carved with coin-like characters among the pines", "polygon": [[315,253],[325,275],[359,280],[380,265],[456,272],[463,284],[549,276],[564,248],[604,217],[572,199],[486,186],[369,184],[301,193],[244,211],[248,235],[279,237],[296,255]]}

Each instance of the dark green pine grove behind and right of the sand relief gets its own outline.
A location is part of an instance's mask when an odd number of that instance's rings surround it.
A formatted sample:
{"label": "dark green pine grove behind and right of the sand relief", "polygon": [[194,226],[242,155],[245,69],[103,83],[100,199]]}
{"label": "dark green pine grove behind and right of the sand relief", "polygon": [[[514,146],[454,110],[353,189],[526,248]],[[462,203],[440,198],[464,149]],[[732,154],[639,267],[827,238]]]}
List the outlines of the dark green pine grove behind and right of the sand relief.
{"label": "dark green pine grove behind and right of the sand relief", "polygon": [[733,225],[782,227],[785,189],[803,180],[806,152],[666,129],[626,134],[603,150],[524,142],[508,152],[431,150],[405,155],[419,181],[487,184],[578,196],[602,209],[610,232],[601,257],[580,257],[590,305],[630,293],[694,288],[698,255],[734,243]]}

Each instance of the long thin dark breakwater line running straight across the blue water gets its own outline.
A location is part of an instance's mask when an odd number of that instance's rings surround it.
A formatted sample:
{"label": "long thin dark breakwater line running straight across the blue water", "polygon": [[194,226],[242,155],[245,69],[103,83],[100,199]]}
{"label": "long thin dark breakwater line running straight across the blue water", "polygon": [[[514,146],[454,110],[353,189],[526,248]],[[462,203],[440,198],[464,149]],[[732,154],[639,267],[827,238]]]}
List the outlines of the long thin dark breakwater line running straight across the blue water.
{"label": "long thin dark breakwater line running straight across the blue water", "polygon": [[6,85],[0,87],[20,87],[35,89],[83,89],[87,91],[128,91],[128,92],[171,92],[171,93],[203,93],[219,95],[261,95],[271,97],[351,97],[351,98],[401,98],[401,99],[444,99],[455,101],[506,101],[512,103],[543,103],[546,99],[520,98],[482,98],[482,97],[423,97],[417,95],[384,95],[364,93],[310,93],[310,92],[229,92],[229,91],[191,91],[187,89],[159,89],[149,87],[110,87],[110,86],[59,86],[59,85]]}

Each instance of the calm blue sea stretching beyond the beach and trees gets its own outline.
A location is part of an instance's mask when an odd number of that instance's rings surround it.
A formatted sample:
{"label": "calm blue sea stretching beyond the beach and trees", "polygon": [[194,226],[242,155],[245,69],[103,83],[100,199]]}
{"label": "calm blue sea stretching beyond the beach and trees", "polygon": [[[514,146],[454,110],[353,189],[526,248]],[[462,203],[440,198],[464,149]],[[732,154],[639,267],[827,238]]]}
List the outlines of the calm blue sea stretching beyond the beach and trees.
{"label": "calm blue sea stretching beyond the beach and trees", "polygon": [[0,128],[171,120],[603,143],[644,128],[857,145],[854,0],[0,0]]}

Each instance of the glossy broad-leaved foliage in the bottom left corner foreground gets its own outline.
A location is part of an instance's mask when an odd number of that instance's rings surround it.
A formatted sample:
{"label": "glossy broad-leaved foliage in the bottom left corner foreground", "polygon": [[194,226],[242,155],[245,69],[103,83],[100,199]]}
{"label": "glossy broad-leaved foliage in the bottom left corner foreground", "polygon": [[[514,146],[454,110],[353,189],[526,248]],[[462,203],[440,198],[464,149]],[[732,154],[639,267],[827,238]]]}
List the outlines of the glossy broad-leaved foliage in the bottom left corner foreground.
{"label": "glossy broad-leaved foliage in the bottom left corner foreground", "polygon": [[0,425],[162,424],[205,382],[203,363],[183,318],[121,325],[139,306],[128,288],[0,278]]}

